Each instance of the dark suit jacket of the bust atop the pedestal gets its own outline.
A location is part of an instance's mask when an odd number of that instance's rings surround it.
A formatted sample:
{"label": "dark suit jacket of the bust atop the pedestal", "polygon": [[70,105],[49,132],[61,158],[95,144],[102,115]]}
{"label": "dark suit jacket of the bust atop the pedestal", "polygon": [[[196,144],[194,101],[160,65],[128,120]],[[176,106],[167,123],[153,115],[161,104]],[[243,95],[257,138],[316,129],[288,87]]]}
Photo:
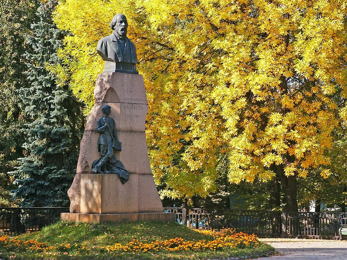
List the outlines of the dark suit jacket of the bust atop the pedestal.
{"label": "dark suit jacket of the bust atop the pedestal", "polygon": [[128,62],[137,63],[137,54],[135,44],[130,41],[128,37],[125,37],[127,44],[129,44],[131,54],[128,55],[131,60],[123,59],[124,47],[122,43],[118,43],[118,38],[114,33],[109,36],[103,37],[99,40],[96,50],[104,61],[116,61],[116,62]]}

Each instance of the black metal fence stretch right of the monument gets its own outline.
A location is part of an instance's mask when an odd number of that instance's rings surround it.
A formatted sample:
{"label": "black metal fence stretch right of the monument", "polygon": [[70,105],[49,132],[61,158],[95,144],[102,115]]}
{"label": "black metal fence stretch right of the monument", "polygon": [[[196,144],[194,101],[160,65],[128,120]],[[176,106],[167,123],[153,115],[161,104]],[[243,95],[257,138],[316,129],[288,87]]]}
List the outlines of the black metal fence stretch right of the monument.
{"label": "black metal fence stretch right of the monument", "polygon": [[176,221],[191,228],[220,230],[230,227],[259,237],[338,239],[338,229],[347,227],[347,213],[201,208],[164,208],[164,211],[176,213]]}

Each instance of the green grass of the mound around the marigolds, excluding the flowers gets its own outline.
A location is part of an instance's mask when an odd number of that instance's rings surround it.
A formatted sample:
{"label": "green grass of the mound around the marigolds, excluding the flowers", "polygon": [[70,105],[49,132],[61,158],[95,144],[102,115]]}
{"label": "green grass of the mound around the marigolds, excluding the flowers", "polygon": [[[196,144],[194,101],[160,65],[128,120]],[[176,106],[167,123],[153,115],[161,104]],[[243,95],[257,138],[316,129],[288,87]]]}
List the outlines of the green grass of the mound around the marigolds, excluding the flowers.
{"label": "green grass of the mound around the marigolds, excluding the flowers", "polygon": [[[274,252],[274,249],[260,243],[257,248],[242,246],[242,248],[226,248],[217,251],[175,251],[167,252],[116,252],[111,254],[104,246],[115,243],[126,244],[138,239],[143,243],[155,240],[169,240],[182,237],[185,241],[213,240],[212,235],[198,233],[185,226],[176,223],[142,222],[126,224],[85,224],[59,222],[42,229],[41,232],[26,233],[20,235],[19,244],[11,242],[5,245],[0,241],[0,259],[225,259],[238,257],[247,259],[251,257],[265,256]],[[23,241],[43,242],[54,248],[43,251],[26,249]],[[8,245],[11,246],[8,247]],[[71,244],[71,248],[64,248],[65,244]],[[7,247],[6,247],[7,246]],[[64,254],[65,253],[65,254]]]}

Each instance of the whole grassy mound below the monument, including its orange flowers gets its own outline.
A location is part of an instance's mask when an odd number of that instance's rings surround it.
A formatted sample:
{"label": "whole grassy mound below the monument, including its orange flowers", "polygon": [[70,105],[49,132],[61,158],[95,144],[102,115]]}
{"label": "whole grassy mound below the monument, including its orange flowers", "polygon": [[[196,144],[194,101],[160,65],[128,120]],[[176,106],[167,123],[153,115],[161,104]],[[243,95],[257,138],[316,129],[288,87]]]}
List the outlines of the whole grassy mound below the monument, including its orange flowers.
{"label": "whole grassy mound below the monument, including its orange flowers", "polygon": [[59,222],[41,232],[0,237],[0,259],[245,259],[271,252],[254,235],[162,222]]}

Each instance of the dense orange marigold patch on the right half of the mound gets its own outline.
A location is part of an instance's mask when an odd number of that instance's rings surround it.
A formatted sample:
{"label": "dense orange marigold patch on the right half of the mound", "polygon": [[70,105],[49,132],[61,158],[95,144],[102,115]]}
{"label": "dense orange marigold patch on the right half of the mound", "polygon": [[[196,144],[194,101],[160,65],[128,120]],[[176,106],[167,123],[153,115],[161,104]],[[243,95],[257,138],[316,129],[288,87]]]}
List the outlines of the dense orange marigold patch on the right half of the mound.
{"label": "dense orange marigold patch on the right half of the mound", "polygon": [[243,246],[250,246],[256,248],[259,245],[258,238],[254,234],[248,235],[242,232],[236,233],[234,229],[223,229],[220,232],[215,231],[200,231],[195,229],[196,232],[206,235],[212,235],[213,240],[200,240],[200,241],[184,241],[181,237],[176,237],[170,240],[155,240],[150,243],[142,243],[139,240],[133,239],[129,243],[122,245],[116,243],[112,246],[107,246],[106,249],[110,252],[148,252],[148,251],[205,251],[205,250],[219,250],[225,247],[242,248]]}

